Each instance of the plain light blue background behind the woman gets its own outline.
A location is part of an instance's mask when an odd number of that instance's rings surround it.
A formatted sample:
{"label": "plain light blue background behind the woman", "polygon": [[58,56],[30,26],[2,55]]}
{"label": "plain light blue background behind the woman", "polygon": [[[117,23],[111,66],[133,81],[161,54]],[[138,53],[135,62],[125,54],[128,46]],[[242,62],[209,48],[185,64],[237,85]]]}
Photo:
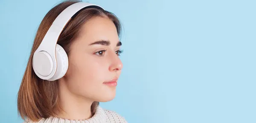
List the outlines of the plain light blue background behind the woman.
{"label": "plain light blue background behind the woman", "polygon": [[[256,123],[255,0],[87,0],[123,25],[116,98],[129,123]],[[0,1],[0,122],[21,123],[17,92],[35,31],[59,0]]]}

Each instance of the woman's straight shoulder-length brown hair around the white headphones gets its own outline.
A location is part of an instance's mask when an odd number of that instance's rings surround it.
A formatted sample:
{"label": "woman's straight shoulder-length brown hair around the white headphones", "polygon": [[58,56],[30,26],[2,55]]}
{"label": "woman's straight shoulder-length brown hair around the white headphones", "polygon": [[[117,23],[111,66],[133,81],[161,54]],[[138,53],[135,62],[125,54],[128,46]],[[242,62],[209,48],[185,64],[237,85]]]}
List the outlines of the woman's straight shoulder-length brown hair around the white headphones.
{"label": "woman's straight shoulder-length brown hair around the white headphones", "polygon": [[[48,81],[37,77],[32,68],[32,56],[58,14],[77,2],[81,1],[66,0],[59,3],[45,15],[38,27],[17,98],[18,112],[23,120],[28,118],[32,121],[38,121],[41,118],[55,116],[55,109],[61,110],[58,101],[58,80]],[[64,48],[67,55],[70,52],[70,45],[79,35],[81,26],[93,17],[108,17],[115,24],[118,35],[120,34],[119,20],[111,12],[95,7],[82,9],[70,19],[58,38],[57,43]],[[99,102],[93,102],[91,106],[93,114],[98,105]]]}

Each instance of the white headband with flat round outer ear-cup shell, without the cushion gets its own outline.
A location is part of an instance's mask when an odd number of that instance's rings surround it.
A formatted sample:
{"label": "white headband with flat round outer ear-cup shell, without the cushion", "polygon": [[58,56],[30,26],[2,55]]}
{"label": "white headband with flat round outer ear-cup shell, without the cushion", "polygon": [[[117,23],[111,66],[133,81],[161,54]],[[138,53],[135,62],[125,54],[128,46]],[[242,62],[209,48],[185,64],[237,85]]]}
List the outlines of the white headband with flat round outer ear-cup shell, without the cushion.
{"label": "white headband with flat round outer ear-cup shell, without the cushion", "polygon": [[[58,37],[71,17],[73,17],[73,15],[81,9],[89,6],[102,8],[101,6],[95,4],[79,2],[68,6],[66,9],[64,9],[64,11],[61,12],[61,14],[58,15],[58,17],[56,17],[33,56],[32,66],[38,77],[44,80],[49,80],[55,75],[57,70],[55,50]],[[46,65],[44,64],[45,66],[42,65],[43,62],[47,62]]]}

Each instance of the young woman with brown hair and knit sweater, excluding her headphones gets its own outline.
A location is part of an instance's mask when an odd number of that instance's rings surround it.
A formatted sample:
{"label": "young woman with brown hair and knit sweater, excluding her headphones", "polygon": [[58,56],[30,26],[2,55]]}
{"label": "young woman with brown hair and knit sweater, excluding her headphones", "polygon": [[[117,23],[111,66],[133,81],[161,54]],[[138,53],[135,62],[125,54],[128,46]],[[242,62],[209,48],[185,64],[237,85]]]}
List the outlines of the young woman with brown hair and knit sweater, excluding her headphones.
{"label": "young woman with brown hair and knit sweater, excluding her headphones", "polygon": [[38,28],[18,92],[18,111],[24,123],[127,123],[116,112],[99,106],[99,102],[115,97],[122,70],[121,26],[114,14],[95,7],[78,11],[57,41],[68,56],[67,72],[53,81],[35,74],[34,52],[55,18],[78,2],[81,1],[58,4],[46,14]]}

